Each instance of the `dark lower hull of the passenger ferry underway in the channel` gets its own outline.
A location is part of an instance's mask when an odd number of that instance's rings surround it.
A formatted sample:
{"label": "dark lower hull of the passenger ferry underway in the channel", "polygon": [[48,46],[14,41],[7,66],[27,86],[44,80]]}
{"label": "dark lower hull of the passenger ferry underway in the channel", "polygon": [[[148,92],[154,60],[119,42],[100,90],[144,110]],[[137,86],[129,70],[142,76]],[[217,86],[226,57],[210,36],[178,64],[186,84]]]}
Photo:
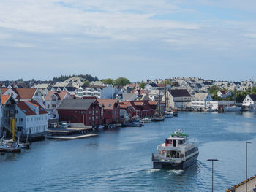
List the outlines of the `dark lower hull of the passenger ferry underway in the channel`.
{"label": "dark lower hull of the passenger ferry underway in the channel", "polygon": [[187,167],[192,166],[192,164],[195,164],[197,162],[197,153],[192,158],[190,158],[187,161],[183,161],[181,163],[172,163],[172,162],[162,162],[162,161],[153,161],[153,168],[154,169],[174,169],[174,170],[183,170],[187,169]]}

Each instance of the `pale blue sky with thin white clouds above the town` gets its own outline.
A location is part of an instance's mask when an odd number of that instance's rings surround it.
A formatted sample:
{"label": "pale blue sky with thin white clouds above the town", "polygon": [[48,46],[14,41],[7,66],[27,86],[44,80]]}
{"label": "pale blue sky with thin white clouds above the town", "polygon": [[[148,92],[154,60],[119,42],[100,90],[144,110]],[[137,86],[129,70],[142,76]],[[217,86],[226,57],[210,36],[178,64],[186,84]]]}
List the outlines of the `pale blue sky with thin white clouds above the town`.
{"label": "pale blue sky with thin white clouds above the town", "polygon": [[1,0],[0,80],[256,80],[255,0]]}

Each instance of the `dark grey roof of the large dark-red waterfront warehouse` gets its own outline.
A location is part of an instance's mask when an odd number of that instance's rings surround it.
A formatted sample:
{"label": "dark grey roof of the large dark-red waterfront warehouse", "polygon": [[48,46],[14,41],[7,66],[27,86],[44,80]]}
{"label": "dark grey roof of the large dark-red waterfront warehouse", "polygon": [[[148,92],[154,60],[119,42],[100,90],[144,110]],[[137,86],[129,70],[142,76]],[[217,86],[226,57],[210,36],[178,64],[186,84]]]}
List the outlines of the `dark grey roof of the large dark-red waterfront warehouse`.
{"label": "dark grey roof of the large dark-red waterfront warehouse", "polygon": [[64,99],[58,110],[88,110],[97,99]]}

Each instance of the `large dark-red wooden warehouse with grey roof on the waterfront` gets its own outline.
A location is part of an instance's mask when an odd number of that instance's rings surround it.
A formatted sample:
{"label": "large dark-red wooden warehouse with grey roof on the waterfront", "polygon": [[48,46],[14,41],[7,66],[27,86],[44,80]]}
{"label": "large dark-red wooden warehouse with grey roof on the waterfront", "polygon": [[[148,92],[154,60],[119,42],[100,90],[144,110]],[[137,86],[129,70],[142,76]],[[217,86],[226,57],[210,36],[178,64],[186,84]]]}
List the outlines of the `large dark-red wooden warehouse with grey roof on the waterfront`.
{"label": "large dark-red wooden warehouse with grey roof on the waterfront", "polygon": [[98,126],[102,123],[102,108],[97,99],[64,99],[57,108],[60,121]]}

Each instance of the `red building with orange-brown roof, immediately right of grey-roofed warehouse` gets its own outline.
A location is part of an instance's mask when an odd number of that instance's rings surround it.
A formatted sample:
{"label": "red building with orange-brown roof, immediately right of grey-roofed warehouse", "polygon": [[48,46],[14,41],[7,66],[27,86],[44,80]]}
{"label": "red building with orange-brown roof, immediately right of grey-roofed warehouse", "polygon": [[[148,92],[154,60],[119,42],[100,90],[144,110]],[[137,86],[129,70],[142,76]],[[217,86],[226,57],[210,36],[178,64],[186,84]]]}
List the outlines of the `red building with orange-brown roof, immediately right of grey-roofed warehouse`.
{"label": "red building with orange-brown roof, immediately right of grey-roofed warehouse", "polygon": [[117,99],[97,99],[103,110],[104,124],[118,123],[120,118],[120,105]]}

